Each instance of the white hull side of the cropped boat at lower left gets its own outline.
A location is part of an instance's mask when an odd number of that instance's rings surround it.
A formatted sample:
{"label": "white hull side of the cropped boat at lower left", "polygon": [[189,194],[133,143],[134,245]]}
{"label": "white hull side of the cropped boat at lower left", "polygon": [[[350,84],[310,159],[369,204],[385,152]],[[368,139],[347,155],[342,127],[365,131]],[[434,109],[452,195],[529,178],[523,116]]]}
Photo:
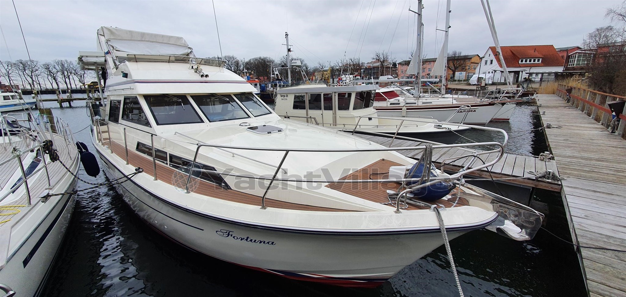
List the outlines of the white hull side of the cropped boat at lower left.
{"label": "white hull side of the cropped boat at lower left", "polygon": [[[75,182],[67,190],[74,189]],[[47,212],[41,210],[24,217],[19,223],[23,226],[37,226],[29,234],[19,249],[0,270],[0,279],[13,289],[16,296],[35,296],[41,293],[54,257],[61,246],[74,209],[74,195],[51,198],[46,204],[54,203]],[[45,217],[40,223],[38,217]],[[18,227],[18,226],[14,226]]]}

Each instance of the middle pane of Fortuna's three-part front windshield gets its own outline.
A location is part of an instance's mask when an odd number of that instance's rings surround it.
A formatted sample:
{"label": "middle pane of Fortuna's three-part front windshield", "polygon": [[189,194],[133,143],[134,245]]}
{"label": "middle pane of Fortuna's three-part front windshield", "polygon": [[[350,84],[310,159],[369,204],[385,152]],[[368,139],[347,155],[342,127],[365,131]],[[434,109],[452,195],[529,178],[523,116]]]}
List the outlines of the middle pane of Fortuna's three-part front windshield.
{"label": "middle pane of Fortuna's three-part front windshield", "polygon": [[197,95],[192,96],[192,99],[209,122],[249,118],[248,114],[230,95]]}

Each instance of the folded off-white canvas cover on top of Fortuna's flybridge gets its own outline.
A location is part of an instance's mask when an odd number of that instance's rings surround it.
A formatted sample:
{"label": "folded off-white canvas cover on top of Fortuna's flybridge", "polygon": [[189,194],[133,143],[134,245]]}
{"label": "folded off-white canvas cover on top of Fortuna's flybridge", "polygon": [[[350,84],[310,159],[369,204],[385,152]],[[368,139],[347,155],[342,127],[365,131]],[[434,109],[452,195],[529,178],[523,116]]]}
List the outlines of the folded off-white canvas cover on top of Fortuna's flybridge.
{"label": "folded off-white canvas cover on top of Fortuna's flybridge", "polygon": [[103,39],[118,53],[174,56],[189,56],[193,53],[193,48],[190,48],[185,38],[179,36],[100,27],[98,29],[98,48],[106,51],[108,48],[101,44]]}

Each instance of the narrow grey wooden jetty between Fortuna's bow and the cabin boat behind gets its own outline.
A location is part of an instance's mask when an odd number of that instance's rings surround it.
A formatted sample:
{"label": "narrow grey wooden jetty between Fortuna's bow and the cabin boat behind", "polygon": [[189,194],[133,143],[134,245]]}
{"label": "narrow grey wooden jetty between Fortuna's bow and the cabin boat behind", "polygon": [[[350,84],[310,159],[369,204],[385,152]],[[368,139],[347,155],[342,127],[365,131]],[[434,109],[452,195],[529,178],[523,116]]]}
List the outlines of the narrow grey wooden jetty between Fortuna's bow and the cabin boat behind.
{"label": "narrow grey wooden jetty between Fortuna's bow and the cabin boat behind", "polygon": [[[419,145],[424,145],[423,142],[414,142],[411,140],[400,140],[395,139],[392,140],[388,137],[380,137],[380,136],[372,136],[372,135],[362,135],[355,133],[354,135],[369,140],[371,142],[376,142],[386,147],[392,145],[393,147],[415,147]],[[480,150],[478,150],[480,152]],[[403,150],[399,151],[400,154],[406,155],[407,157],[411,157],[413,159],[419,159],[422,152],[416,150]],[[473,158],[464,158],[459,160],[453,160],[456,157],[461,155],[468,154],[466,150],[458,149],[458,148],[448,148],[448,149],[434,149],[433,150],[433,163],[439,167],[444,160],[448,160],[445,162],[443,170],[449,172],[458,172],[459,169],[462,169],[465,165],[469,164],[469,167],[476,167],[481,165],[481,160],[473,160]],[[491,153],[486,155],[486,157],[482,157],[486,163],[495,160],[498,157],[498,154]],[[540,160],[533,156],[527,155],[517,155],[517,154],[505,154],[498,163],[491,166],[490,170],[477,170],[475,172],[469,173],[468,177],[476,177],[476,178],[491,178],[494,179],[502,179],[508,177],[531,177],[532,174],[528,172],[543,172],[546,169],[553,170],[558,173],[557,164],[553,160]],[[538,187],[540,189],[546,190],[554,190],[560,191],[561,184],[557,180],[545,180],[545,179],[514,179],[507,180],[507,182],[511,182],[513,184],[525,185],[528,187]]]}

